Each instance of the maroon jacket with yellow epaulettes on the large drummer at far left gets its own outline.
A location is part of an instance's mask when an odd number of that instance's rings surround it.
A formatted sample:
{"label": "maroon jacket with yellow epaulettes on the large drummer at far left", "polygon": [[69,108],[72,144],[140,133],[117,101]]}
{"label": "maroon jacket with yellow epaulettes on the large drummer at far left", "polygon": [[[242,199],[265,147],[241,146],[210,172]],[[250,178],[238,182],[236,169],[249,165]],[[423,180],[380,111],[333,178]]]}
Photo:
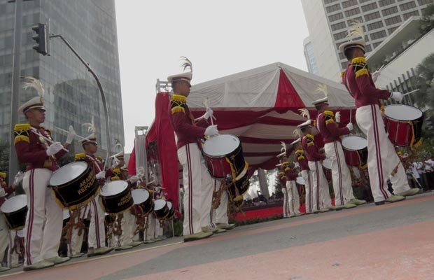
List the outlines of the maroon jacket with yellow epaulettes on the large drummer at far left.
{"label": "maroon jacket with yellow epaulettes on the large drummer at far left", "polygon": [[[51,139],[50,130],[45,130],[43,127],[33,127],[38,130],[44,137]],[[27,170],[35,168],[46,168],[52,171],[57,169],[56,159],[61,158],[66,154],[66,151],[60,150],[52,156],[47,155],[47,148],[50,143],[39,137],[31,131],[31,126],[28,124],[15,125],[15,151],[17,152],[18,161],[27,163]]]}

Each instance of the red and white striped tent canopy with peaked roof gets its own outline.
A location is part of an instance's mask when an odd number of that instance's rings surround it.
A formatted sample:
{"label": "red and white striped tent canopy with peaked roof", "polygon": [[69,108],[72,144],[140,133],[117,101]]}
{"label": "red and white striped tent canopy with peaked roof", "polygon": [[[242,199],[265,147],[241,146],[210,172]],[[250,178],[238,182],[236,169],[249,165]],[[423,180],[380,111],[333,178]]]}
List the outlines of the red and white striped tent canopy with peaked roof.
{"label": "red and white striped tent canopy with peaked roof", "polygon": [[187,104],[197,118],[207,102],[219,132],[241,140],[248,164],[273,169],[280,142],[295,140],[293,130],[306,120],[298,109],[309,109],[311,118],[316,117],[311,102],[324,97],[319,85],[327,85],[330,109],[341,111],[343,125],[350,116],[354,119],[354,99],[344,85],[280,62],[193,85]]}

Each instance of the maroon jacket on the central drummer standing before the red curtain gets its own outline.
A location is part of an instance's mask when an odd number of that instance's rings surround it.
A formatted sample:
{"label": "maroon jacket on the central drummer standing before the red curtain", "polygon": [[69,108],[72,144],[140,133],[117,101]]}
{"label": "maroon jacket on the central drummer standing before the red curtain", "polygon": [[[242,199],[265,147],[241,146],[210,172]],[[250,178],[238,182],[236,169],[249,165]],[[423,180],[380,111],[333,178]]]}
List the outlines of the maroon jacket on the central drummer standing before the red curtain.
{"label": "maroon jacket on the central drummer standing before the red curtain", "polygon": [[[205,127],[197,126],[193,114],[187,106],[187,99],[183,95],[174,94],[170,101],[170,123],[174,127],[178,142],[176,148],[181,148],[186,144],[197,143],[202,139],[205,133]],[[199,122],[204,125],[206,122]]]}

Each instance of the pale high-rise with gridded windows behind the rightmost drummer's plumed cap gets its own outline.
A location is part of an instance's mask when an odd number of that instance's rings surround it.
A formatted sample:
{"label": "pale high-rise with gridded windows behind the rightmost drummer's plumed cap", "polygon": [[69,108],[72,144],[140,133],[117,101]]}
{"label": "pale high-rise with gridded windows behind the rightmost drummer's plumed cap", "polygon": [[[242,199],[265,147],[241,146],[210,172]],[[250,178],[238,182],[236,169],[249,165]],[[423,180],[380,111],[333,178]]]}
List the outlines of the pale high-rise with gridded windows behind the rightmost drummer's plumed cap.
{"label": "pale high-rise with gridded windows behind the rightmost drummer's plumed cap", "polygon": [[413,15],[421,15],[430,0],[302,0],[319,75],[338,80],[346,59],[338,46],[346,41],[351,22],[365,29],[370,51]]}

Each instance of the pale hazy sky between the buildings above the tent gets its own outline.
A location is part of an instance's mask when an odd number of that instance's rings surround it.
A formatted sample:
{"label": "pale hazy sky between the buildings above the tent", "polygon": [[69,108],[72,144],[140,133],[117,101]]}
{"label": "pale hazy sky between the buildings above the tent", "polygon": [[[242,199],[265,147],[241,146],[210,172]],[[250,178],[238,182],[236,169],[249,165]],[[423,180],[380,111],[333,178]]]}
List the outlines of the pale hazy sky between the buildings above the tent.
{"label": "pale hazy sky between the buildings above the tent", "polygon": [[[309,0],[317,1],[317,0]],[[283,62],[307,71],[301,0],[116,0],[125,153],[151,125],[157,79],[193,62],[193,85]]]}

